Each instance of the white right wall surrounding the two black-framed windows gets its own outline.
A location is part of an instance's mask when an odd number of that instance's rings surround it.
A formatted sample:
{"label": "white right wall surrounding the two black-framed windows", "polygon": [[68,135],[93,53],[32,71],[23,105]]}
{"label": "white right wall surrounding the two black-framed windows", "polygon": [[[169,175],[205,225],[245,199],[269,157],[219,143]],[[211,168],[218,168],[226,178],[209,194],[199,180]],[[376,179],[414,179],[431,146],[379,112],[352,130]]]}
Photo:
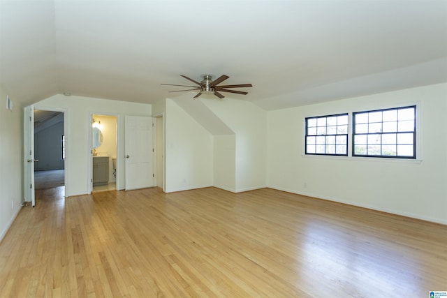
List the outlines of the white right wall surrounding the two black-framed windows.
{"label": "white right wall surrounding the two black-framed windows", "polygon": [[[413,104],[419,161],[303,155],[305,117]],[[447,84],[268,112],[268,186],[447,223],[446,112]]]}

